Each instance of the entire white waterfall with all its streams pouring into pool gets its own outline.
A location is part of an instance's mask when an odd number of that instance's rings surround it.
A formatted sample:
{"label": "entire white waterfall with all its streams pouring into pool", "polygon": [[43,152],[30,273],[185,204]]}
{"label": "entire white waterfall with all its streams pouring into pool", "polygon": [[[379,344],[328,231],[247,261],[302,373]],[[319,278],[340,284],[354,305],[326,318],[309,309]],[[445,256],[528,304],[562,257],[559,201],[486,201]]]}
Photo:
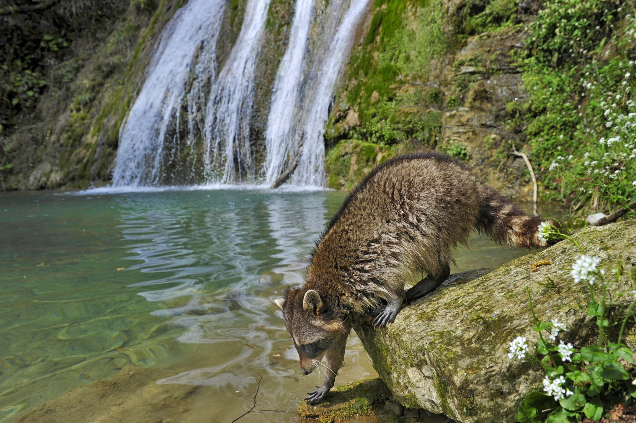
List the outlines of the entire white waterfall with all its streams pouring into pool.
{"label": "entire white waterfall with all its streams pouring into pool", "polygon": [[270,0],[247,0],[239,36],[219,70],[216,48],[228,4],[190,0],[163,30],[121,127],[114,186],[271,185],[281,174],[291,174],[291,184],[324,186],[322,134],[369,1],[296,0],[266,125],[255,132],[254,85]]}

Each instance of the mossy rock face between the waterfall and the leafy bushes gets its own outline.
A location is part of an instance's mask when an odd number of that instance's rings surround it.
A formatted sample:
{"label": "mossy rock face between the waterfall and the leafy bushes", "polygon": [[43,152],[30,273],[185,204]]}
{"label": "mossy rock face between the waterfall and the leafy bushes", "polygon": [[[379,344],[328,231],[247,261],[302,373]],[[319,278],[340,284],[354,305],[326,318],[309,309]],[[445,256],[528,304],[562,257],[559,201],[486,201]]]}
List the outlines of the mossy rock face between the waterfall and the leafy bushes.
{"label": "mossy rock face between the waterfall and the leafy bushes", "polygon": [[[531,198],[523,160],[502,151],[524,140],[506,111],[527,101],[509,55],[523,47],[519,24],[538,8],[502,1],[495,11],[492,4],[375,3],[326,131],[330,188],[350,189],[392,155],[436,149],[466,161],[503,193]],[[478,21],[483,13],[492,22]]]}

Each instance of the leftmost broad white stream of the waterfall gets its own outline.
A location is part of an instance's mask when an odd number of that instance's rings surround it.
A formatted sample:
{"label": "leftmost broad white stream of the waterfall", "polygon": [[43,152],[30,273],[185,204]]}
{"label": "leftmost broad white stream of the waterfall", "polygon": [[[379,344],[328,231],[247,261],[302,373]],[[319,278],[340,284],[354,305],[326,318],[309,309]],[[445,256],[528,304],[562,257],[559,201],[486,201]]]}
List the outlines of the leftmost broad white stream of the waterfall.
{"label": "leftmost broad white stream of the waterfall", "polygon": [[[160,183],[164,138],[179,113],[195,53],[200,49],[200,80],[216,74],[216,40],[225,0],[190,0],[163,30],[148,76],[120,134],[115,186]],[[178,121],[178,120],[177,120]]]}

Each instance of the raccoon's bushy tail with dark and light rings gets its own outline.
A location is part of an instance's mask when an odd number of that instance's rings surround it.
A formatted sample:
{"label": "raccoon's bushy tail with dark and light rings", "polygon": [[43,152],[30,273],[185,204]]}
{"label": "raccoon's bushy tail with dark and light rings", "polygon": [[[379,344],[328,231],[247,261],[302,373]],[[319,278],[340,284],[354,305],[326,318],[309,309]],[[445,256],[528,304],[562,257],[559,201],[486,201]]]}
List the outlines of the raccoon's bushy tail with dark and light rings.
{"label": "raccoon's bushy tail with dark and light rings", "polygon": [[[481,200],[477,230],[487,233],[496,242],[506,242],[522,248],[546,247],[556,240],[543,242],[537,233],[539,223],[545,219],[525,213],[508,197],[492,188],[484,187],[485,195]],[[558,222],[553,222],[558,225]]]}

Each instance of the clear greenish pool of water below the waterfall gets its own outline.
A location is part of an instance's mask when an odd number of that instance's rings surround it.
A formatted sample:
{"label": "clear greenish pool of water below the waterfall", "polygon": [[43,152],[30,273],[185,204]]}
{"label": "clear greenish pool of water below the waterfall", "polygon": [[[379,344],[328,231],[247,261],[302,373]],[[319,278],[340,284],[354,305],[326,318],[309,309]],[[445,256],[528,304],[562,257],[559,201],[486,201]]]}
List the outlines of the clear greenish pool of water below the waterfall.
{"label": "clear greenish pool of water below the waterfall", "polygon": [[[187,421],[238,417],[260,377],[259,406],[290,412],[242,421],[296,420],[322,376],[300,375],[272,298],[303,281],[314,241],[344,197],[1,194],[0,422],[127,364],[178,369],[156,382],[204,387]],[[476,236],[469,246],[453,272],[527,254]],[[336,384],[377,375],[354,334],[345,364]]]}

